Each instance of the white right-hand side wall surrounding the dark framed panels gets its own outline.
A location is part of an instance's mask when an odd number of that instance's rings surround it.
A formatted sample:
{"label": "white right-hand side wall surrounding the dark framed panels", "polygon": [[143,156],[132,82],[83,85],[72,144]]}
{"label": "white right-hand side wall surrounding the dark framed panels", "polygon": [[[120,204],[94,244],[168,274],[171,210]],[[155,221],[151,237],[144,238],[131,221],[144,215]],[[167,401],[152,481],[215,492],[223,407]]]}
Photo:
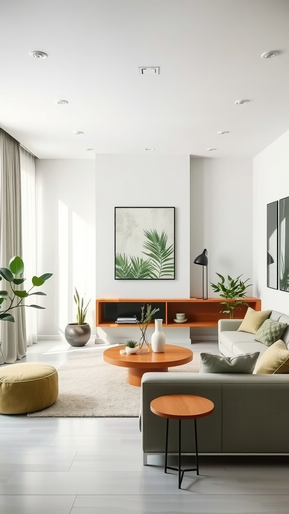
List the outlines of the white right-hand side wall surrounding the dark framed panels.
{"label": "white right-hand side wall surrounding the dark framed panels", "polygon": [[253,159],[254,295],[263,309],[289,313],[289,294],[267,287],[267,204],[289,196],[289,131]]}

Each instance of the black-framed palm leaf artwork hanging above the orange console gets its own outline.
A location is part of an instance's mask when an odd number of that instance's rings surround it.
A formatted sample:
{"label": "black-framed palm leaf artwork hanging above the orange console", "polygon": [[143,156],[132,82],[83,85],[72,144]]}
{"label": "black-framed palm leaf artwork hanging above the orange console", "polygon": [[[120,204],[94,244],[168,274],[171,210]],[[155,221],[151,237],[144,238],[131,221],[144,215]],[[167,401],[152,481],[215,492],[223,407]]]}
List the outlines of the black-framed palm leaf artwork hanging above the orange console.
{"label": "black-framed palm leaf artwork hanging above the orange console", "polygon": [[175,208],[115,207],[115,279],[174,278]]}

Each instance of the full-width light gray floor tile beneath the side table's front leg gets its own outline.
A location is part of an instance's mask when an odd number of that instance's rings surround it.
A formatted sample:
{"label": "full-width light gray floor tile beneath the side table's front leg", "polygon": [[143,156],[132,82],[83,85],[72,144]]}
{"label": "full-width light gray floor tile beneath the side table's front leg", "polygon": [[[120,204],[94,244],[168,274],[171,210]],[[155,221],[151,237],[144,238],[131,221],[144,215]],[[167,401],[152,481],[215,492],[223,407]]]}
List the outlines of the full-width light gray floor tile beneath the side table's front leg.
{"label": "full-width light gray floor tile beneath the side table's front leg", "polygon": [[165,474],[118,471],[99,472],[14,472],[1,494],[287,494],[288,480],[234,478],[186,473],[183,489],[177,488],[176,472]]}

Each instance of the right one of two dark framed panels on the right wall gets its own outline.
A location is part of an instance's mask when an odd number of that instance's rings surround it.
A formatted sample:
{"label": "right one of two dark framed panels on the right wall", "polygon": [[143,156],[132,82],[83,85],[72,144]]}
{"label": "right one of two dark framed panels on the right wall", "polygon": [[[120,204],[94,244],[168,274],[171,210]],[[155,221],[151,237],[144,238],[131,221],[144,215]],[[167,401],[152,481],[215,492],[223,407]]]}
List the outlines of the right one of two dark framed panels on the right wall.
{"label": "right one of two dark framed panels on the right wall", "polygon": [[279,200],[279,289],[289,291],[289,196]]}

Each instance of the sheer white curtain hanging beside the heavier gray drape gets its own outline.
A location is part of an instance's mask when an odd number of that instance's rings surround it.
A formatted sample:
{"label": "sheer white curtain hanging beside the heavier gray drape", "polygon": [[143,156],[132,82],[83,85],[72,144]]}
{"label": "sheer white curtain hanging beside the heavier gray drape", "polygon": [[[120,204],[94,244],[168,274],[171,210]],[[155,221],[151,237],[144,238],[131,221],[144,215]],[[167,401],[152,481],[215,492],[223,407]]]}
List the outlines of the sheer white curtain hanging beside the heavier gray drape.
{"label": "sheer white curtain hanging beside the heavier gray drape", "polygon": [[[20,147],[22,192],[22,255],[24,277],[28,285],[37,272],[36,266],[36,212],[35,212],[35,157]],[[33,302],[37,296],[33,296]],[[27,346],[37,343],[37,309],[26,308]]]}

